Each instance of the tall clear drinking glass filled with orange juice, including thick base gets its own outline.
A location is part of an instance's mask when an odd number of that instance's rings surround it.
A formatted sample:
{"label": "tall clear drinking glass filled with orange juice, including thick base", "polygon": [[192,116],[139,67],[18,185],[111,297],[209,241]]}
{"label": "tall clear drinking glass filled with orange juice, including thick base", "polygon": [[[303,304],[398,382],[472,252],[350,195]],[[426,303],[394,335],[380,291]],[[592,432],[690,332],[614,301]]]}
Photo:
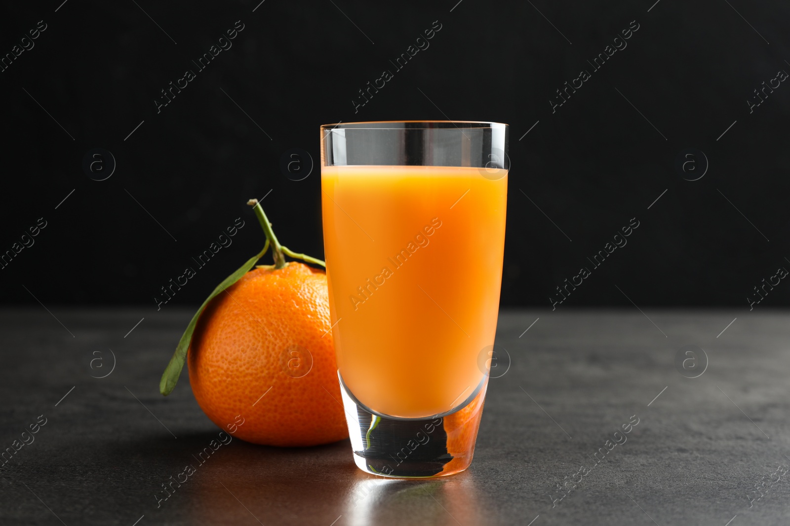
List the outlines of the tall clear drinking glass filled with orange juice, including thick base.
{"label": "tall clear drinking glass filled with orange juice, including thick base", "polygon": [[329,310],[354,460],[391,477],[472,462],[496,332],[508,127],[321,127]]}

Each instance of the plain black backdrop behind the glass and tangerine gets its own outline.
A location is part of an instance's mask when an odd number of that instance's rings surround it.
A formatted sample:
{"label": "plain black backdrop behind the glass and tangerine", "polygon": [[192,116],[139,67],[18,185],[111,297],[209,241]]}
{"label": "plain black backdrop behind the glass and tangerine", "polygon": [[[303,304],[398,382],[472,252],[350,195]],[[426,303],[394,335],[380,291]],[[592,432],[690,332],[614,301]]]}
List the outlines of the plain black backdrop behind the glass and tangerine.
{"label": "plain black backdrop behind the glass and tangerine", "polygon": [[[506,306],[548,307],[555,286],[634,217],[626,247],[562,308],[630,305],[625,294],[640,306],[745,308],[754,285],[790,267],[790,86],[752,114],[747,105],[763,81],[790,71],[786,2],[267,0],[254,12],[258,0],[61,2],[6,4],[0,17],[2,54],[47,24],[0,73],[0,252],[47,221],[0,270],[8,304],[35,295],[156,308],[160,287],[243,218],[231,247],[171,302],[198,304],[261,248],[251,197],[266,196],[281,241],[322,257],[318,126],[337,121],[511,125]],[[191,60],[235,21],[244,29],[231,49],[198,73]],[[442,29],[430,47],[355,113],[359,88],[434,21]],[[592,72],[587,61],[631,21],[640,28],[626,49],[552,114],[555,90]],[[154,99],[186,69],[197,78],[157,114]],[[117,162],[106,181],[82,169],[95,147]],[[280,170],[291,148],[314,161],[303,181]],[[675,169],[687,148],[709,161],[698,181]],[[764,304],[788,298],[778,285]]]}

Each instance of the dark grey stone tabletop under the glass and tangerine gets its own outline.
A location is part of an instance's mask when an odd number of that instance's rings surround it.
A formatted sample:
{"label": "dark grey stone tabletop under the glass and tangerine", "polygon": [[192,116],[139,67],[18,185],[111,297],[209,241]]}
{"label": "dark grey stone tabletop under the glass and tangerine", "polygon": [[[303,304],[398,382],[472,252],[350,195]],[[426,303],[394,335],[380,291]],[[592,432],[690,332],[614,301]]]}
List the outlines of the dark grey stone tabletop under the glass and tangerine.
{"label": "dark grey stone tabletop under the glass and tangerine", "polygon": [[790,524],[783,311],[503,311],[467,472],[234,439],[157,507],[219,431],[186,378],[157,390],[191,312],[48,307],[0,312],[0,524]]}

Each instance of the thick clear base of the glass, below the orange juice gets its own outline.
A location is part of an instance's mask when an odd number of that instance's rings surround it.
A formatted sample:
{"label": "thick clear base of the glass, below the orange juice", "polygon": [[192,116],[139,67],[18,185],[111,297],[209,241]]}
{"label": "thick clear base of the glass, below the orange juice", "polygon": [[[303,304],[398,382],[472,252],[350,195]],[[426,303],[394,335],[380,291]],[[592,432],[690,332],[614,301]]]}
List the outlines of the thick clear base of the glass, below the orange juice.
{"label": "thick clear base of the glass, below the orange juice", "polygon": [[340,379],[354,462],[371,475],[399,479],[462,472],[472,463],[488,377],[466,405],[426,419],[388,418],[356,401]]}

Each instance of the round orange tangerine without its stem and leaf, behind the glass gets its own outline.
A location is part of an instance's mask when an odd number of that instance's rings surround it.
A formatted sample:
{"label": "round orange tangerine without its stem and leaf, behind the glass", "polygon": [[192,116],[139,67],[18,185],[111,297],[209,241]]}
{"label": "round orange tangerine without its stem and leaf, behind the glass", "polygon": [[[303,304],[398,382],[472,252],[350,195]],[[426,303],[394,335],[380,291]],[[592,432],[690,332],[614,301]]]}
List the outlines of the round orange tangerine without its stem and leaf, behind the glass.
{"label": "round orange tangerine without its stem and leaf, behind the glass", "polygon": [[323,270],[292,262],[247,272],[195,327],[186,361],[198,405],[256,444],[347,438],[330,326]]}

